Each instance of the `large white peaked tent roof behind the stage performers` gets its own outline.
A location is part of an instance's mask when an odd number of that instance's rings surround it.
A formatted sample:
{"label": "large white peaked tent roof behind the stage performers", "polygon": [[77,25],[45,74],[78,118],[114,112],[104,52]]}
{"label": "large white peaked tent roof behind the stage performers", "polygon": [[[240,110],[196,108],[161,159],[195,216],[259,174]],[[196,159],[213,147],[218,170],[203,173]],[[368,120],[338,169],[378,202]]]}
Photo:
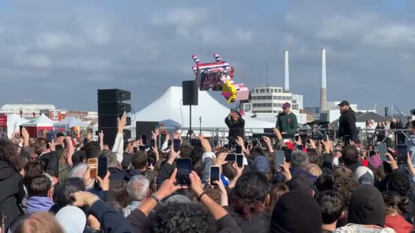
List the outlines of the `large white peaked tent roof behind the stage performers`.
{"label": "large white peaked tent roof behind the stage performers", "polygon": [[[188,128],[189,106],[183,106],[182,88],[170,87],[153,103],[147,105],[135,114],[136,121],[163,121],[172,119]],[[230,112],[229,108],[216,101],[206,91],[199,90],[199,105],[192,105],[192,126],[199,128],[199,117],[201,117],[202,128],[227,128],[225,117]],[[273,128],[275,123],[259,121],[251,117],[245,119],[245,128]]]}

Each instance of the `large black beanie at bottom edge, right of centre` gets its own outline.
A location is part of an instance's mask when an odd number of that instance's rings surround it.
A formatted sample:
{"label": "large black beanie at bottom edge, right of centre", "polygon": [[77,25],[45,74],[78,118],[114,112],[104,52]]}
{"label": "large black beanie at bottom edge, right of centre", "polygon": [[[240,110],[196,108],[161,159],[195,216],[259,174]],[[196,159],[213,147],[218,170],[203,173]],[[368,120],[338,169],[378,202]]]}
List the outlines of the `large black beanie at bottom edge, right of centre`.
{"label": "large black beanie at bottom edge, right of centre", "polygon": [[270,232],[320,233],[322,210],[311,194],[301,190],[290,191],[281,196],[271,216]]}

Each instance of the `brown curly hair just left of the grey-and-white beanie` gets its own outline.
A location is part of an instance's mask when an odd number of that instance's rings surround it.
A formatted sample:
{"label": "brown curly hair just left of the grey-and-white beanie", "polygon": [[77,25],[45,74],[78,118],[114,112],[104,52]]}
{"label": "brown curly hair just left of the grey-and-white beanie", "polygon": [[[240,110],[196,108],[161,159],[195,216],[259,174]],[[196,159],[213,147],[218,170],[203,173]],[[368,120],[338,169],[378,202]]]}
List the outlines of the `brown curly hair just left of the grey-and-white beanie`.
{"label": "brown curly hair just left of the grey-and-white beanie", "polygon": [[358,187],[358,183],[356,183],[354,174],[349,168],[340,166],[334,170],[333,190],[342,196],[346,206],[349,206],[351,193],[356,187]]}

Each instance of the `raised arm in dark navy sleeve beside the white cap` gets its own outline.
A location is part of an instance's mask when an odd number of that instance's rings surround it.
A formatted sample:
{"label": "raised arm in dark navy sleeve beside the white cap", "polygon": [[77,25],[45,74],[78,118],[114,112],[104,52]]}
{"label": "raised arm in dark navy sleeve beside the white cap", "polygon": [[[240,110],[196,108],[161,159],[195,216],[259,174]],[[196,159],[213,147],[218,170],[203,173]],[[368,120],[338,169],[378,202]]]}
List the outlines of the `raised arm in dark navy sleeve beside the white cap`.
{"label": "raised arm in dark navy sleeve beside the white cap", "polygon": [[75,202],[73,205],[78,207],[89,206],[89,212],[95,216],[104,232],[132,232],[127,219],[122,216],[114,207],[101,201],[98,196],[90,192],[75,192],[72,194]]}

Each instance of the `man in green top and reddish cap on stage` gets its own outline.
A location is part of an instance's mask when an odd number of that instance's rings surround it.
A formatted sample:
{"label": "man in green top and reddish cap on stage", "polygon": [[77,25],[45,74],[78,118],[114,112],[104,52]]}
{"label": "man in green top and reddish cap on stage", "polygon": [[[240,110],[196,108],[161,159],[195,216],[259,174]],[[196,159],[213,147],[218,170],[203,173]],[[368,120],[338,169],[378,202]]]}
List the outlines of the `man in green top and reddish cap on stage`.
{"label": "man in green top and reddish cap on stage", "polygon": [[284,103],[282,105],[282,112],[278,114],[277,124],[275,128],[282,134],[295,134],[297,132],[297,117],[291,112],[291,104]]}

